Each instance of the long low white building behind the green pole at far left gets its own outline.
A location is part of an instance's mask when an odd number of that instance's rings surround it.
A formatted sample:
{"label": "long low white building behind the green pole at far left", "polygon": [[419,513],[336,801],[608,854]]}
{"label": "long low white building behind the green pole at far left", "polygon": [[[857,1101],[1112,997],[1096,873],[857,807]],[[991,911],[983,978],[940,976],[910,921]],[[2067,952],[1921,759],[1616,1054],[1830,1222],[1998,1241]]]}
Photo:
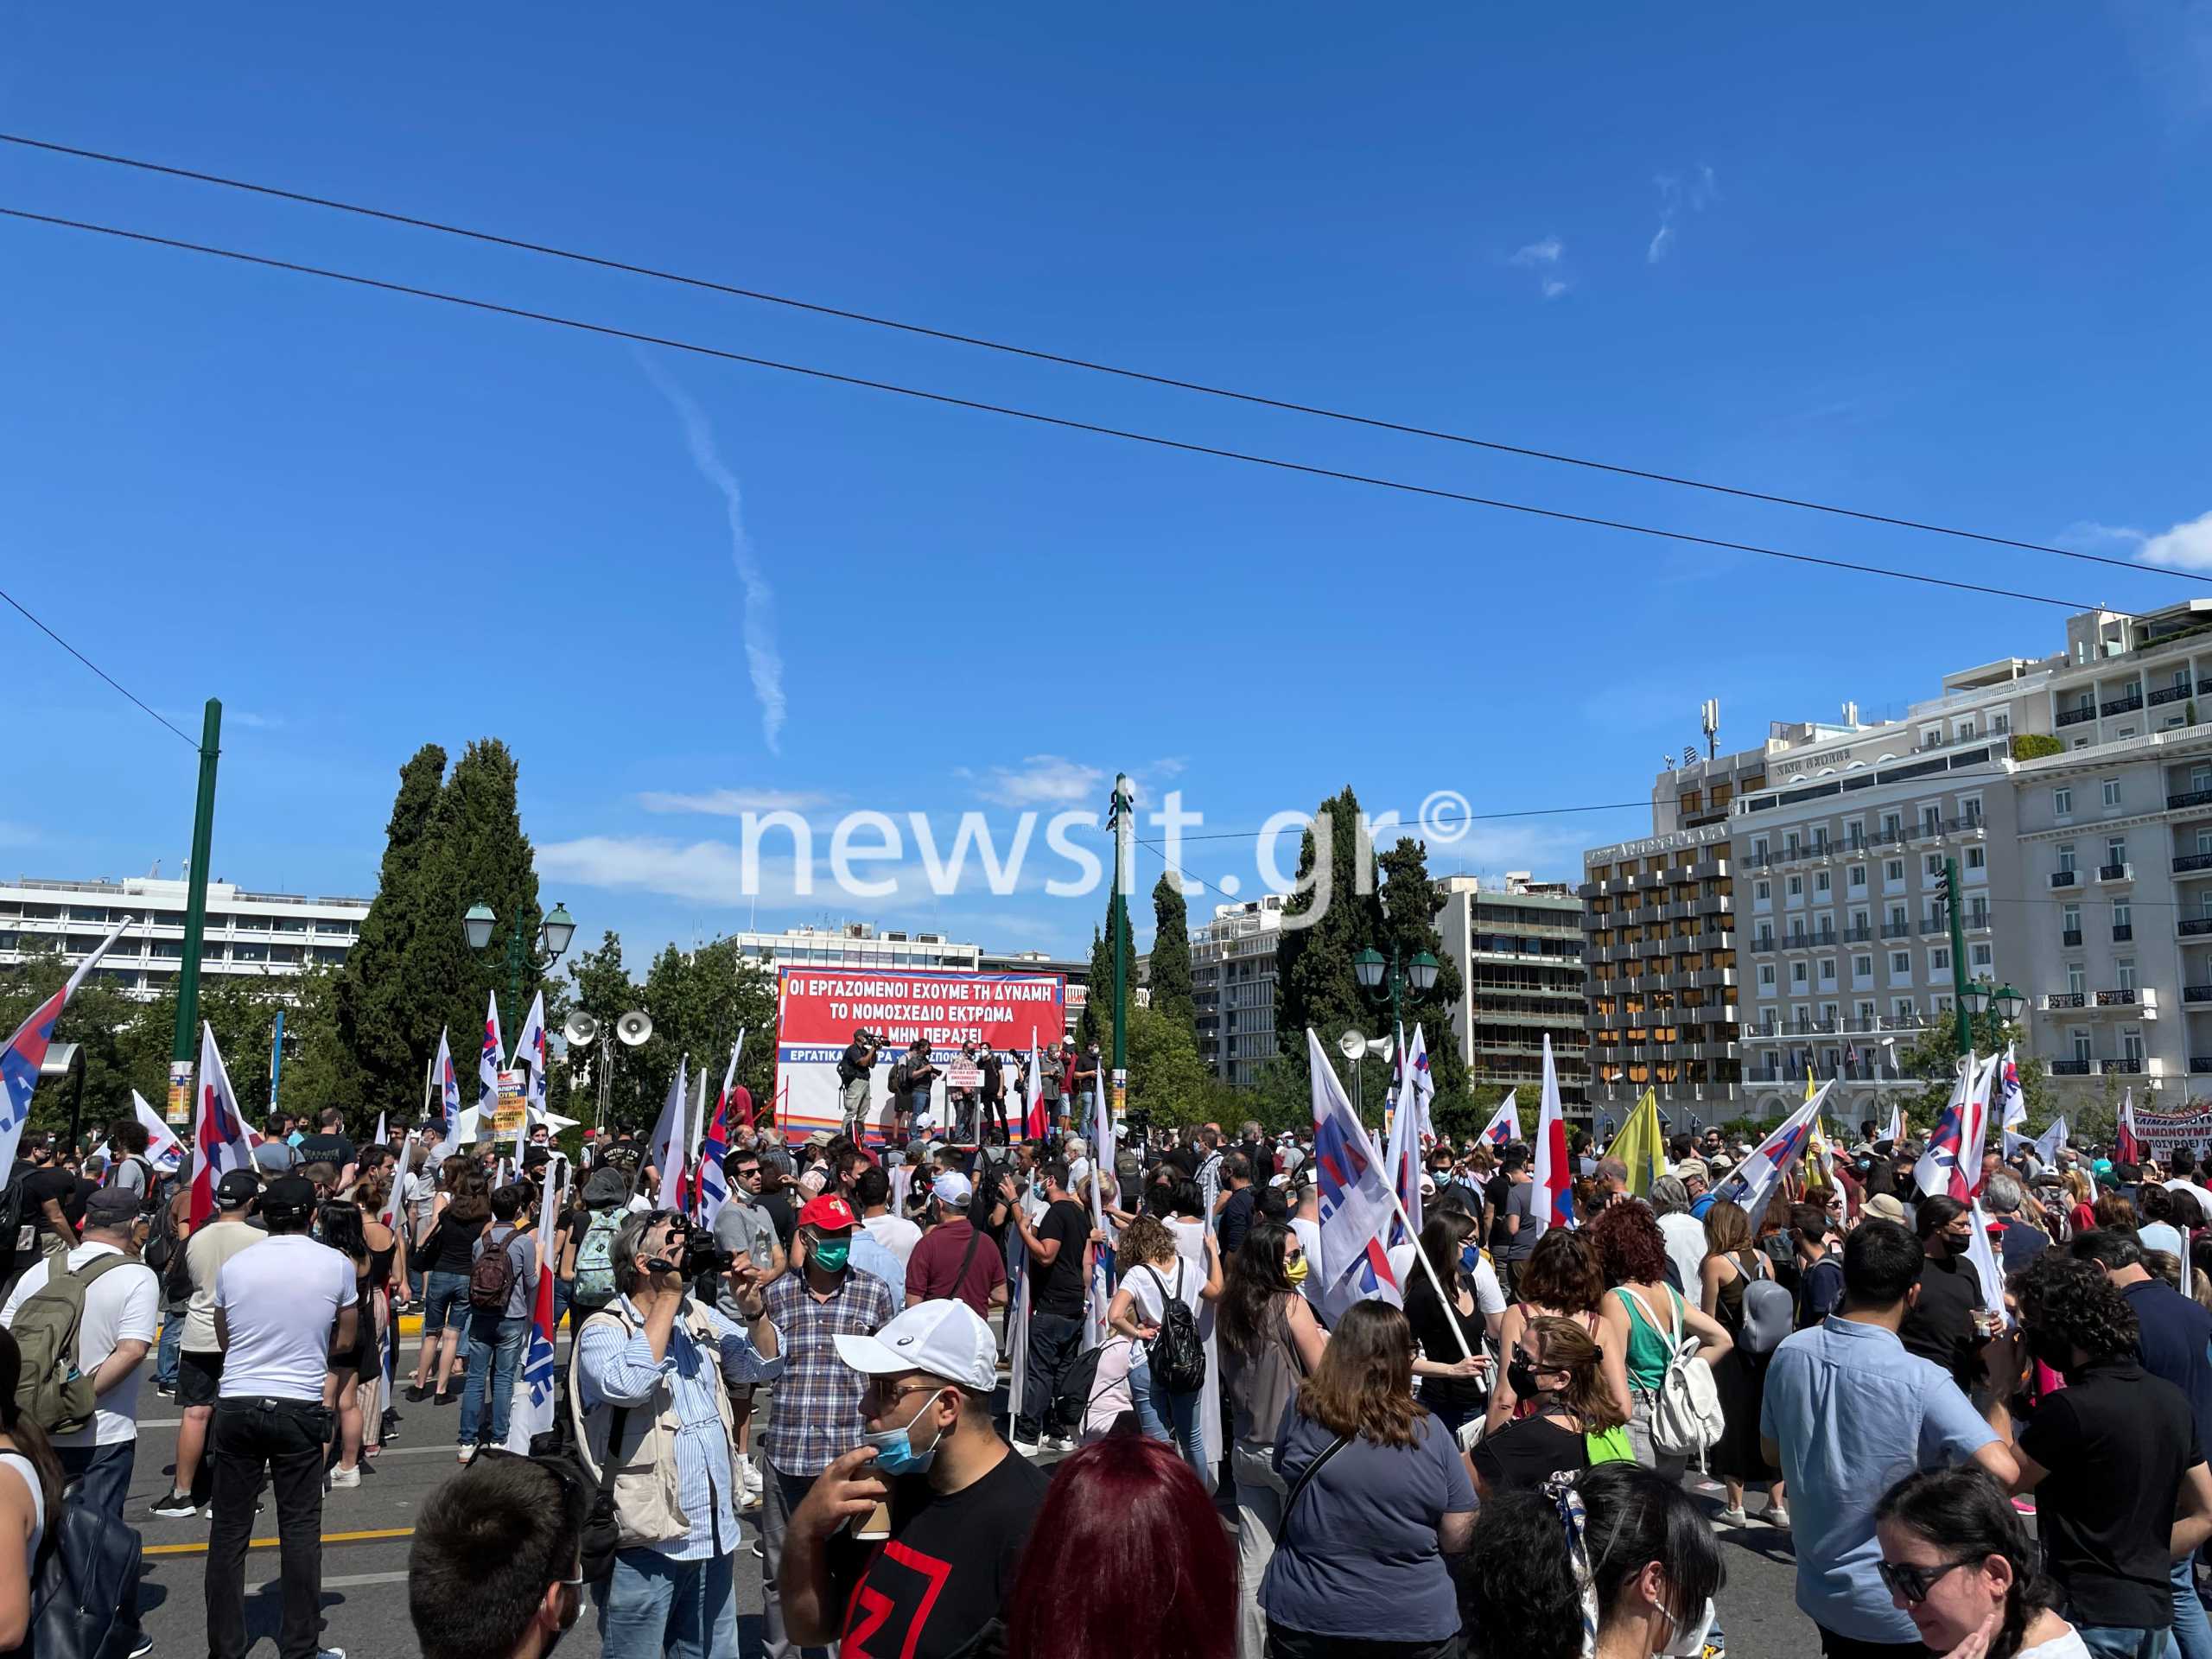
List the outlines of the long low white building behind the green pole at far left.
{"label": "long low white building behind the green pole at far left", "polygon": [[[91,956],[124,916],[137,918],[115,949],[93,969],[135,998],[170,989],[184,967],[181,880],[128,876],[124,880],[0,883],[0,967],[29,951],[60,949],[69,962]],[[303,898],[252,894],[226,880],[208,883],[208,916],[199,940],[201,975],[288,978],[307,967],[343,962],[361,938],[365,898]]]}

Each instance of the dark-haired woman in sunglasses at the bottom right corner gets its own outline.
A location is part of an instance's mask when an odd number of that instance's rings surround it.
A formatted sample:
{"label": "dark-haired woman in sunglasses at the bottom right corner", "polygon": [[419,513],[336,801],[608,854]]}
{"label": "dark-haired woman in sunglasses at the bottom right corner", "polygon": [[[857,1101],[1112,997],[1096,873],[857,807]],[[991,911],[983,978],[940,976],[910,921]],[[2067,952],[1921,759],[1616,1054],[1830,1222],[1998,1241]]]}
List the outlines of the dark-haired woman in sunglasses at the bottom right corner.
{"label": "dark-haired woman in sunglasses at the bottom right corner", "polygon": [[2035,1571],[2013,1500],[1975,1464],[1907,1475],[1874,1506],[1889,1599],[1953,1659],[2090,1659]]}

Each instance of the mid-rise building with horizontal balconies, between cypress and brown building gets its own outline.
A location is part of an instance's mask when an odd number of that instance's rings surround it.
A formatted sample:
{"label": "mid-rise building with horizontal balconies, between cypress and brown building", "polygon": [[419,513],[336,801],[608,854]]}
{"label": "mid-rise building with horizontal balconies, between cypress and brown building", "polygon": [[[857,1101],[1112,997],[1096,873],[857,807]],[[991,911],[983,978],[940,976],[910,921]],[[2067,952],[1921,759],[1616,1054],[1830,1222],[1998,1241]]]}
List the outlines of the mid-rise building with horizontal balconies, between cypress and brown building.
{"label": "mid-rise building with horizontal balconies, between cypress and brown building", "polygon": [[1566,883],[1524,869],[1502,883],[1449,876],[1436,931],[1460,969],[1451,1035],[1469,1084],[1528,1088],[1544,1075],[1551,1037],[1559,1102],[1577,1117],[1588,1097],[1582,900]]}

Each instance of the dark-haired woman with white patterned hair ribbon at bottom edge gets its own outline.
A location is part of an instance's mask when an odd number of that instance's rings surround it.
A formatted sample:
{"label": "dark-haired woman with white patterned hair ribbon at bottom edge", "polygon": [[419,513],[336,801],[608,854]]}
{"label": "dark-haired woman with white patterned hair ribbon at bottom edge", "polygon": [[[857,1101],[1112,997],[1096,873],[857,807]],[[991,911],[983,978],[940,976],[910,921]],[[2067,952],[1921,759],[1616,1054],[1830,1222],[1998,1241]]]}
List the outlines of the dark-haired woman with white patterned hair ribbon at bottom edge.
{"label": "dark-haired woman with white patterned hair ribbon at bottom edge", "polygon": [[1688,1493],[1639,1464],[1608,1462],[1482,1506],[1460,1573],[1462,1652],[1699,1655],[1723,1577],[1712,1528]]}

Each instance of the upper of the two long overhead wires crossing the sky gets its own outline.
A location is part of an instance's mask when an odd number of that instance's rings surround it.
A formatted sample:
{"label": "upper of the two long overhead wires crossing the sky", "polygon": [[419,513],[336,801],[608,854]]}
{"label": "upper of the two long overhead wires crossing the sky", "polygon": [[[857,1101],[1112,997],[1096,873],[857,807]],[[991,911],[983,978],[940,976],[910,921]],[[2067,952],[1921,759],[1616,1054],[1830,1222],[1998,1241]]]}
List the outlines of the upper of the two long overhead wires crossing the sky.
{"label": "upper of the two long overhead wires crossing the sky", "polygon": [[[1469,449],[1486,449],[1500,456],[1520,456],[1524,460],[1544,460],[1559,467],[1584,467],[1588,471],[1615,473],[1619,478],[1637,478],[1650,484],[1672,484],[1677,489],[1701,489],[1712,495],[1734,495],[1736,500],[1765,502],[1770,507],[1794,507],[1809,513],[1832,513],[1836,518],[1851,518],[1863,524],[1887,524],[1900,531],[1924,531],[1929,535],[1951,535],[1966,542],[1982,542],[1984,546],[2008,546],[2022,553],[2051,553],[2062,560],[2079,560],[2084,564],[2110,564],[2121,571],[2143,571],[2143,564],[2135,560],[2115,560],[2104,553],[2084,553],[2070,546],[2053,546],[2048,542],[2026,542],[2011,535],[1993,535],[1989,531],[1971,531],[1955,524],[1933,524],[1927,520],[1902,518],[1896,513],[1876,513],[1860,507],[1843,507],[1838,502],[1814,502],[1801,495],[1781,495],[1763,489],[1747,489],[1743,484],[1721,484],[1708,478],[1686,478],[1681,473],[1666,473],[1650,467],[1630,467],[1613,460],[1595,460],[1590,456],[1568,456],[1555,449],[1535,449],[1531,445],[1513,445],[1500,438],[1478,438],[1464,431],[1444,431],[1440,427],[1422,427],[1407,420],[1387,420],[1380,416],[1354,414],[1349,409],[1332,409],[1318,403],[1301,403],[1296,398],[1272,398],[1263,392],[1243,392],[1239,387],[1210,385],[1206,380],[1190,380],[1175,374],[1152,374],[1148,369],[1133,369],[1121,363],[1099,363],[1095,358],[1073,356],[1068,352],[1048,352],[1035,345],[1015,345],[1011,341],[993,341],[982,334],[962,334],[958,330],[931,327],[927,323],[909,323],[898,316],[878,316],[874,312],[858,312],[845,305],[827,305],[823,301],[799,299],[794,294],[776,294],[765,288],[745,288],[741,283],[723,283],[710,276],[692,276],[679,270],[664,270],[659,265],[644,265],[630,259],[611,259],[604,254],[588,254],[575,248],[560,248],[555,243],[531,241],[526,237],[502,237],[493,230],[478,230],[471,226],[456,226],[442,219],[427,219],[414,212],[396,212],[389,208],[369,208],[361,201],[343,201],[338,197],[314,195],[307,190],[285,190],[274,184],[259,184],[254,179],[232,179],[221,173],[204,173],[199,168],[170,166],[166,161],[148,161],[135,155],[115,155],[108,150],[88,150],[75,144],[55,144],[51,139],[35,139],[22,133],[0,133],[0,144],[15,144],[27,150],[44,150],[49,155],[69,155],[80,161],[100,161],[104,166],[133,168],[137,173],[157,173],[170,179],[188,179],[192,184],[212,184],[223,190],[243,190],[259,197],[274,197],[279,201],[299,201],[310,208],[330,208],[334,212],[349,212],[363,219],[378,219],[383,223],[409,226],[414,230],[434,230],[442,237],[462,237],[467,241],[489,243],[493,248],[513,248],[518,252],[544,254],[549,259],[566,259],[577,265],[593,265],[597,270],[615,270],[630,276],[650,276],[661,283],[677,283],[681,288],[697,288],[710,294],[728,294],[732,299],[761,301],[765,305],[783,305],[794,312],[810,312],[814,316],[834,316],[845,323],[865,323],[869,327],[896,330],[900,334],[916,334],[929,341],[945,341],[949,345],[973,345],[984,352],[1002,352],[1006,356],[1029,358],[1033,363],[1053,363],[1066,369],[1086,369],[1091,374],[1110,374],[1121,380],[1137,380],[1141,385],[1168,387],[1175,392],[1197,392],[1208,398],[1223,398],[1230,403],[1245,403],[1261,409],[1281,409],[1285,414],[1314,416],[1321,420],[1338,420],[1352,427],[1369,427],[1374,431],[1394,431],[1407,438],[1433,438],[1438,442],[1464,445]],[[2157,571],[2159,575],[2177,575],[2190,582],[2212,582],[2212,575],[2199,575],[2194,571]]]}

